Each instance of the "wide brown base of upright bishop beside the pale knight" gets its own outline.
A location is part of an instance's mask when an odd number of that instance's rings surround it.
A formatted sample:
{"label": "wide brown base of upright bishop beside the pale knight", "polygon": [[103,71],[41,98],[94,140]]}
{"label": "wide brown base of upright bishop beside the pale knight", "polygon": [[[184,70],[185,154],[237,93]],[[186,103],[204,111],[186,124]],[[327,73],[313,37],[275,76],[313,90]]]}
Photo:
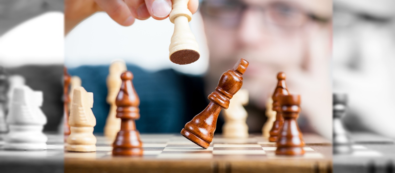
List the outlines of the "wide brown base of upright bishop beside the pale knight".
{"label": "wide brown base of upright bishop beside the pale knight", "polygon": [[142,156],[143,143],[137,130],[119,131],[113,143],[114,156]]}

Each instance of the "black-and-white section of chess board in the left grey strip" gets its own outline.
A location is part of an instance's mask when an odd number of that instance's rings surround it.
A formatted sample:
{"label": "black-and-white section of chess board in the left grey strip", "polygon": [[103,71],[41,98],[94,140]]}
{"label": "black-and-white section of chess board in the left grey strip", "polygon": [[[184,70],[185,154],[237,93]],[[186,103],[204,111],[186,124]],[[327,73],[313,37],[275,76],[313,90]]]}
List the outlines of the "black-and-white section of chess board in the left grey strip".
{"label": "black-and-white section of chess board in the left grey strip", "polygon": [[47,134],[47,150],[4,150],[0,141],[1,173],[62,173],[64,169],[63,135]]}

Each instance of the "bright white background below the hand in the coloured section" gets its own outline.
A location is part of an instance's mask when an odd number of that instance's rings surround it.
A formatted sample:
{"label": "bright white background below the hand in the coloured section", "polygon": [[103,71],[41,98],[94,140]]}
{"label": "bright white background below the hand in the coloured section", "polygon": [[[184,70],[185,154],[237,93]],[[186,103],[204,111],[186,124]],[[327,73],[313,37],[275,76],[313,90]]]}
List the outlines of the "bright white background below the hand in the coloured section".
{"label": "bright white background below the hand in the coloured section", "polygon": [[203,21],[198,13],[193,15],[190,27],[198,41],[201,57],[192,64],[178,65],[169,60],[170,38],[174,30],[169,19],[136,20],[132,26],[124,27],[106,13],[96,13],[66,36],[65,65],[71,68],[109,64],[120,58],[150,71],[174,68],[184,73],[201,74],[208,67],[208,51]]}

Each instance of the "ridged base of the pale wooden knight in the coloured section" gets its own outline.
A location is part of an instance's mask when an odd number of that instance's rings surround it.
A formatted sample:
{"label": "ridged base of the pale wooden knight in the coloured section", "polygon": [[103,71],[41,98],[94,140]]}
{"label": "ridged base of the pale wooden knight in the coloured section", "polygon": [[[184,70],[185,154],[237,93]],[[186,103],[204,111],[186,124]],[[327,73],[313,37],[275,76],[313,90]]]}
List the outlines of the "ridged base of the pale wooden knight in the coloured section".
{"label": "ridged base of the pale wooden knight in the coloured section", "polygon": [[95,152],[96,137],[93,127],[70,127],[70,135],[66,142],[66,150],[73,152]]}

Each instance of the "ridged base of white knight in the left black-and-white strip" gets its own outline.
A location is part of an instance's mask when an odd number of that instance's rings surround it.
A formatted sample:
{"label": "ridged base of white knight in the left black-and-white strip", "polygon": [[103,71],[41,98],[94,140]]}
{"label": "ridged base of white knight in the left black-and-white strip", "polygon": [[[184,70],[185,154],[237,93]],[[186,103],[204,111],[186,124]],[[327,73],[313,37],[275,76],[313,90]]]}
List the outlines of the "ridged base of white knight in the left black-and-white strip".
{"label": "ridged base of white knight in the left black-and-white strip", "polygon": [[46,150],[48,137],[42,132],[43,126],[10,125],[4,137],[6,150]]}

